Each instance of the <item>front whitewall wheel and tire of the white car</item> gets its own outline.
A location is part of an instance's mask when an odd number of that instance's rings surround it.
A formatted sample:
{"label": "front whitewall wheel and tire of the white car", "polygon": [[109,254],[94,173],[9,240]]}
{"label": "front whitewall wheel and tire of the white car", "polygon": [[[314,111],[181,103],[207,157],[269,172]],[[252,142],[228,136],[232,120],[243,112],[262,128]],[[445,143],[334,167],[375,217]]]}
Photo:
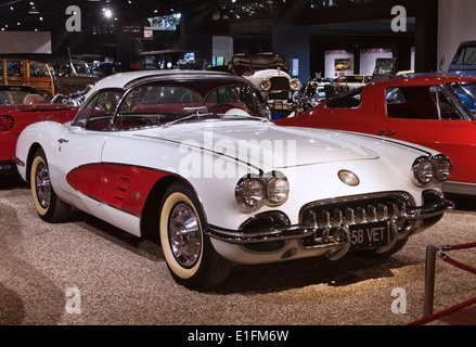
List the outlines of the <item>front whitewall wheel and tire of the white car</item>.
{"label": "front whitewall wheel and tire of the white car", "polygon": [[160,244],[173,279],[196,291],[221,284],[232,266],[215,250],[204,233],[204,220],[191,189],[181,183],[171,184],[160,208]]}

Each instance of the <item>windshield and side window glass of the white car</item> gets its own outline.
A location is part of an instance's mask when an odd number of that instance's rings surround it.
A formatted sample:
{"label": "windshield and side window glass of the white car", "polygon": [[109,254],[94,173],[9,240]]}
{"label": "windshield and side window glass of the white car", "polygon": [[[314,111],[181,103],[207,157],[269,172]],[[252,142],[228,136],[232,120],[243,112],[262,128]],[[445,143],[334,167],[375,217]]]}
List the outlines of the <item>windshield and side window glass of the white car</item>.
{"label": "windshield and side window glass of the white car", "polygon": [[74,125],[89,130],[137,130],[203,119],[269,118],[259,92],[247,83],[193,80],[147,82],[123,92],[99,91]]}

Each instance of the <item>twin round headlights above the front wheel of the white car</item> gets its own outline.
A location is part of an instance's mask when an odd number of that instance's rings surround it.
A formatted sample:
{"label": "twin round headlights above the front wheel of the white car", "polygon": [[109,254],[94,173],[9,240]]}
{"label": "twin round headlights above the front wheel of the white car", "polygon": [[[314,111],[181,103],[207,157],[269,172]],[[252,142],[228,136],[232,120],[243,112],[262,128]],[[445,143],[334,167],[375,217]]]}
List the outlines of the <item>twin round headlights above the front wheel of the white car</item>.
{"label": "twin round headlights above the front wheel of the white car", "polygon": [[234,190],[239,205],[244,209],[258,208],[262,204],[279,206],[290,194],[290,182],[280,171],[266,175],[246,175],[240,179]]}

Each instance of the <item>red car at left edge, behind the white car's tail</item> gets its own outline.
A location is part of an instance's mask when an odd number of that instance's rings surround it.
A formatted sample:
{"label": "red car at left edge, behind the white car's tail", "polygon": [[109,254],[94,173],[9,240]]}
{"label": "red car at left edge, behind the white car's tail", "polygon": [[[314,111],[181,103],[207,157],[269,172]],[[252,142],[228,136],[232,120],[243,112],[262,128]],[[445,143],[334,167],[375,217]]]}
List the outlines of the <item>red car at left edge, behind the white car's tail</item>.
{"label": "red car at left edge, behind the white car's tail", "polygon": [[0,86],[0,176],[16,174],[16,139],[28,125],[41,120],[72,120],[78,106],[43,101],[31,86]]}

